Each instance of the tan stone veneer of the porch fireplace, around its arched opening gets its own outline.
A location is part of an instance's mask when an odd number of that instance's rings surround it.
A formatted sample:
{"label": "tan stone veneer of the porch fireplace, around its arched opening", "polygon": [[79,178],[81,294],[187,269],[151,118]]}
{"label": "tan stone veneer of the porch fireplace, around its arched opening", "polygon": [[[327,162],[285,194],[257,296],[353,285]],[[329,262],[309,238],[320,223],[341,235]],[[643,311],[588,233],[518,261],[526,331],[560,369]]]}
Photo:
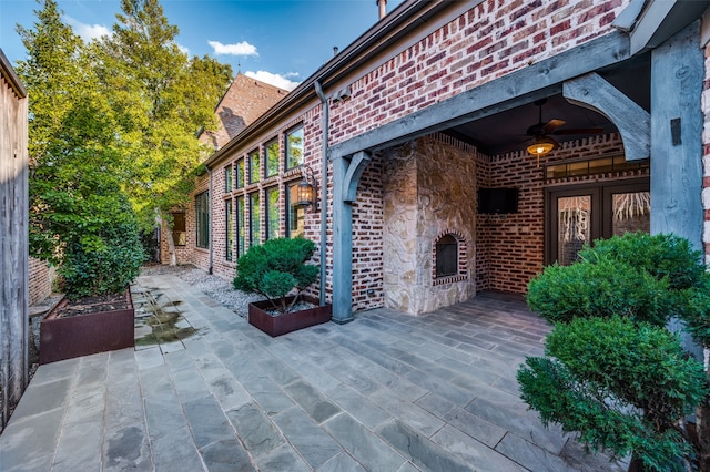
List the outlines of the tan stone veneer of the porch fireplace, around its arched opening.
{"label": "tan stone veneer of the porch fireplace, around its arched opening", "polygon": [[[384,160],[385,306],[413,315],[473,297],[476,234],[476,151],[444,135],[419,138]],[[465,238],[465,274],[434,278],[434,245],[444,234]]]}

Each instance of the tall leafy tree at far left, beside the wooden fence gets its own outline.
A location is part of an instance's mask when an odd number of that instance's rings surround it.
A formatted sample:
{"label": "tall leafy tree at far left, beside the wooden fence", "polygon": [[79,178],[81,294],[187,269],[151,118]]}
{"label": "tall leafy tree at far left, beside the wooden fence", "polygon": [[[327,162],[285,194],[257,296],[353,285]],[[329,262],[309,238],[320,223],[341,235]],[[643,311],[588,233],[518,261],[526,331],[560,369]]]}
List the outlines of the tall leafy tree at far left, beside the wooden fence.
{"label": "tall leafy tree at far left, beside the wooden fence", "polygon": [[104,225],[130,215],[112,212],[124,166],[95,57],[54,0],[39,3],[34,28],[18,27],[28,50],[17,70],[30,95],[30,254],[61,264],[67,244],[101,249]]}

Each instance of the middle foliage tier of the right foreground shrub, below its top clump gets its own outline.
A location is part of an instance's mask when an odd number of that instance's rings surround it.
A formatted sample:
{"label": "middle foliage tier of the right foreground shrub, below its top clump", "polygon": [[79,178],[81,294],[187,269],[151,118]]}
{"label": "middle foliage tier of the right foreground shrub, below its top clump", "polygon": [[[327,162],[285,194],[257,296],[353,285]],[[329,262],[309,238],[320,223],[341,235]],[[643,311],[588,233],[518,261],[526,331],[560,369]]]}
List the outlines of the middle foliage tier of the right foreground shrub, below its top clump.
{"label": "middle foliage tier of the right foreground shrub, below its top clump", "polygon": [[668,281],[623,263],[597,258],[549,266],[528,284],[527,304],[551,322],[575,317],[628,316],[663,325],[671,310]]}

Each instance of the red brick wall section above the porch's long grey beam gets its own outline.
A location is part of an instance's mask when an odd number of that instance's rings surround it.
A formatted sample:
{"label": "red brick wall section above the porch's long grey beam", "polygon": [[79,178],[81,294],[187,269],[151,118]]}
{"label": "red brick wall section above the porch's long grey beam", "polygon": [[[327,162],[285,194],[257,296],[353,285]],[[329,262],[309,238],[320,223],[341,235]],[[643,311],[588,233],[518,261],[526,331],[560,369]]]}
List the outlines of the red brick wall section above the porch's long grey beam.
{"label": "red brick wall section above the porch's long grey beam", "polygon": [[611,31],[629,0],[488,0],[351,84],[332,141],[425,109]]}

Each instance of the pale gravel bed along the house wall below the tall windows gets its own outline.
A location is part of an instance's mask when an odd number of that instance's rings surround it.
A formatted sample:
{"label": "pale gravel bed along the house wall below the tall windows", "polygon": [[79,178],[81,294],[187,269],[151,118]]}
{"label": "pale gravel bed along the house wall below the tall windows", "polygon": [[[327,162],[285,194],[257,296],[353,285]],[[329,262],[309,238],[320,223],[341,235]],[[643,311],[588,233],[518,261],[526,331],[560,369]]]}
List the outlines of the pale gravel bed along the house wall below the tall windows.
{"label": "pale gravel bed along the house wall below the tall windows", "polygon": [[242,318],[246,318],[246,312],[248,310],[247,305],[250,302],[263,299],[261,295],[245,294],[244,291],[235,290],[232,286],[232,280],[224,279],[216,275],[210,275],[192,264],[181,264],[179,266],[144,266],[141,270],[141,275],[173,275],[180,277],[191,287],[214,298],[216,301],[224,305]]}

